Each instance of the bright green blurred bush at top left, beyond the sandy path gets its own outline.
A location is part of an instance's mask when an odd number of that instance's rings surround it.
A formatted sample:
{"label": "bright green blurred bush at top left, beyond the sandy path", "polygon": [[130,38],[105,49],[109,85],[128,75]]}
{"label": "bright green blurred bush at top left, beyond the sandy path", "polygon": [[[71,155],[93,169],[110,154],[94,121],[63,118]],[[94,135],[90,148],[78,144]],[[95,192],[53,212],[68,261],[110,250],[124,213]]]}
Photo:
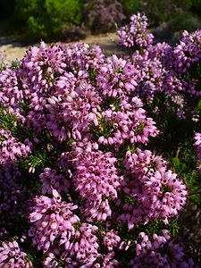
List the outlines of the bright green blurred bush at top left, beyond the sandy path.
{"label": "bright green blurred bush at top left, beyond the sandy path", "polygon": [[82,4],[80,0],[16,0],[13,21],[24,40],[62,38],[65,26],[80,25]]}

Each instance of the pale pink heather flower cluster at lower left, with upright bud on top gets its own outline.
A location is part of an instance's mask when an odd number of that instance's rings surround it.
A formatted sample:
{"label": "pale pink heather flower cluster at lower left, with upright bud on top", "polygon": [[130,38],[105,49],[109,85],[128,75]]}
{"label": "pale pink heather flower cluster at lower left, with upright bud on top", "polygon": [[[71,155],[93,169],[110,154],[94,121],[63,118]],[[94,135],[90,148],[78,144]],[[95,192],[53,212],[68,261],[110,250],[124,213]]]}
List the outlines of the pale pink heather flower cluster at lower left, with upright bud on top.
{"label": "pale pink heather flower cluster at lower left, with upright bud on top", "polygon": [[77,205],[62,202],[62,197],[53,189],[53,198],[41,196],[34,199],[35,206],[29,215],[29,222],[33,223],[29,229],[33,245],[46,252],[54,239],[58,239],[59,245],[69,247],[71,236],[75,235],[74,224],[80,222],[80,218],[72,211]]}

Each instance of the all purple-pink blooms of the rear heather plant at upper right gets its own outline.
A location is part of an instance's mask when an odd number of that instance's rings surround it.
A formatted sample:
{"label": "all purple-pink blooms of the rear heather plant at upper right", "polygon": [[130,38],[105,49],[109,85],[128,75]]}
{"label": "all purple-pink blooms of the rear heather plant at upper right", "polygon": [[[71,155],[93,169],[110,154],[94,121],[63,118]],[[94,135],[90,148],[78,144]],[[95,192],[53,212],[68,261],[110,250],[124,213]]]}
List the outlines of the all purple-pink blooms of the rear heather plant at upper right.
{"label": "all purple-pink blooms of the rear heather plant at upper right", "polygon": [[[140,31],[141,34],[147,31],[147,18],[139,13],[132,17],[134,21],[139,22],[135,24],[131,21],[130,24],[119,29],[117,35],[120,37],[122,46],[133,46],[135,49],[131,54],[131,64],[137,74],[138,86],[134,91],[136,96],[141,96],[146,99],[146,102],[153,102],[155,94],[162,91],[168,96],[181,96],[184,98],[185,107],[176,104],[176,113],[178,117],[185,119],[184,110],[192,105],[188,97],[193,96],[196,104],[196,97],[200,96],[200,30],[197,29],[193,33],[185,30],[176,46],[171,47],[166,43],[153,45],[150,41],[139,48],[137,41],[135,44],[133,40],[138,36],[138,29],[143,29]],[[140,23],[144,26],[139,26]],[[125,58],[127,64],[130,63],[130,57]],[[191,113],[197,120],[198,115],[194,110],[192,109]]]}

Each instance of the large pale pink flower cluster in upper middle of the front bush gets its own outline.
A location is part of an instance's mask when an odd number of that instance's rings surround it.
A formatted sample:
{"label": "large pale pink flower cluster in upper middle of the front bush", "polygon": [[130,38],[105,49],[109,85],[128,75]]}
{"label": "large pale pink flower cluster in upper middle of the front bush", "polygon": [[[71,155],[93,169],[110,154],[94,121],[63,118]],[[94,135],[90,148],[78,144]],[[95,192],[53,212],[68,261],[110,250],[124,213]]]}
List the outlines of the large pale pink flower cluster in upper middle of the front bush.
{"label": "large pale pink flower cluster in upper middle of the front bush", "polygon": [[[72,73],[65,73],[56,81],[57,94],[48,99],[46,127],[60,141],[66,138],[80,140],[82,132],[87,132],[89,123],[97,125],[101,98],[87,80],[78,80]],[[66,128],[60,127],[65,122]]]}

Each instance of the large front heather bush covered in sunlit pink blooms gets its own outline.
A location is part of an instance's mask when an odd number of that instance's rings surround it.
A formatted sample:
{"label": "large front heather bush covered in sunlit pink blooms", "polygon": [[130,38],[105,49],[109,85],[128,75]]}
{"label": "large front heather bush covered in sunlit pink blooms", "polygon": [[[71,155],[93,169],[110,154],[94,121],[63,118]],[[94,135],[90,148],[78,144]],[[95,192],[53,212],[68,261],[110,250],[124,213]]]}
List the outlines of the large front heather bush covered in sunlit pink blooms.
{"label": "large front heather bush covered in sunlit pink blooms", "polygon": [[41,42],[1,71],[1,266],[193,266],[172,242],[188,189],[150,150],[162,133],[139,70],[98,46]]}

